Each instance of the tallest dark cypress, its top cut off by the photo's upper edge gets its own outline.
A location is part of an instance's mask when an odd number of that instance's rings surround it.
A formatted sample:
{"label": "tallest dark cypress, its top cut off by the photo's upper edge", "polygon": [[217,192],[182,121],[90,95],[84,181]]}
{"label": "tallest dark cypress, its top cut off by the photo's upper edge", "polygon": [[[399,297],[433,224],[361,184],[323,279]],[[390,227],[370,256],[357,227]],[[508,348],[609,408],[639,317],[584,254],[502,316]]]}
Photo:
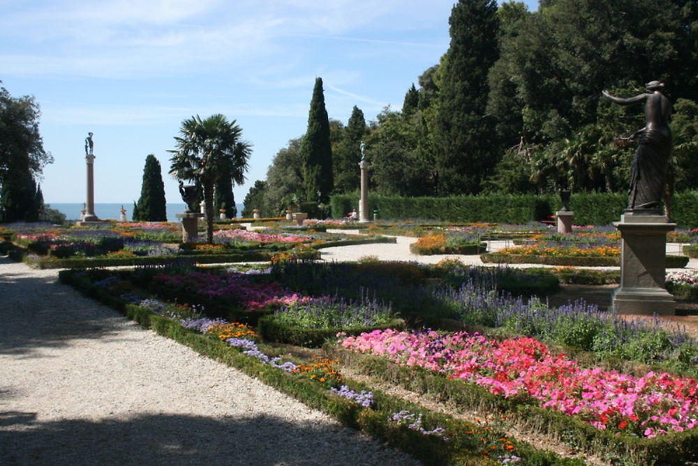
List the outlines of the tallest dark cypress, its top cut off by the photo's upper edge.
{"label": "tallest dark cypress, its top cut off by the photo's upper edge", "polygon": [[496,12],[495,0],[459,0],[451,11],[434,135],[440,195],[477,193],[498,158],[485,112],[487,73],[498,58]]}

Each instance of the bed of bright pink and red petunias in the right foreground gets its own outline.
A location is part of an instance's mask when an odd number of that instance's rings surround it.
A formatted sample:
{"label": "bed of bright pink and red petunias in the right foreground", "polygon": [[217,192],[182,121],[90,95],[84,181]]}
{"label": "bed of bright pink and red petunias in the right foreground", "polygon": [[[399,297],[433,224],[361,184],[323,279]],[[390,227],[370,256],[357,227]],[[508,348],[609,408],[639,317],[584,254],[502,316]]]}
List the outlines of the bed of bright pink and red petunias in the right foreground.
{"label": "bed of bright pink and red petunias in the right foreground", "polygon": [[[597,430],[591,438],[591,431],[572,420],[556,426],[560,429],[557,434],[566,431],[570,437],[571,432],[579,431],[580,437],[588,438],[588,446],[607,450],[621,447],[626,454],[643,458],[632,464],[651,464],[658,460],[652,455],[660,451],[664,454],[662,464],[683,464],[698,456],[695,449],[686,449],[698,439],[695,379],[667,373],[632,376],[584,369],[564,354],[552,354],[533,338],[497,342],[477,333],[387,330],[347,337],[339,344],[399,366],[423,368],[478,386],[507,400],[494,399],[493,403],[512,412],[535,415],[527,407],[533,405],[542,412],[586,423]],[[653,437],[658,437],[658,442],[651,440]]]}

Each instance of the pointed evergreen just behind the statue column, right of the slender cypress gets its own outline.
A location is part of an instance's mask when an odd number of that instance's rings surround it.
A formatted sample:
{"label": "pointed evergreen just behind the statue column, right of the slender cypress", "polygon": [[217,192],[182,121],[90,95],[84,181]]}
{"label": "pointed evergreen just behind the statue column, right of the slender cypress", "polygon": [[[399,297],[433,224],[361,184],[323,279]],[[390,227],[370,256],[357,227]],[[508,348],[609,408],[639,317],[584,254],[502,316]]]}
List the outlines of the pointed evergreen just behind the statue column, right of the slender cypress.
{"label": "pointed evergreen just behind the statue column, right of the slender cypress", "polygon": [[359,162],[362,156],[361,142],[365,134],[364,112],[354,105],[338,150],[333,154],[334,188],[337,193],[350,193],[360,187]]}

